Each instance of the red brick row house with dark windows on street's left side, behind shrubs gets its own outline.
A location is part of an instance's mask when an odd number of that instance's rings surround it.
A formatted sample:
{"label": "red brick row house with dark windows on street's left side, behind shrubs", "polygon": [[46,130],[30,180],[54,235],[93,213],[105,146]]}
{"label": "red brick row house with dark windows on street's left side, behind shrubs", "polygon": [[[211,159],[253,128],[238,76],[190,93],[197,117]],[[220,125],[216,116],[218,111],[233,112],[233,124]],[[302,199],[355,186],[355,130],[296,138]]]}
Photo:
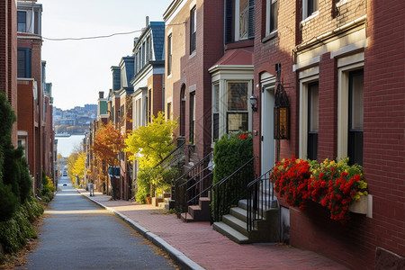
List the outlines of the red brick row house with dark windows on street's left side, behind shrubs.
{"label": "red brick row house with dark windows on street's left side, behind shrubs", "polygon": [[[54,175],[52,98],[41,60],[42,4],[17,2],[17,125],[18,144],[25,148],[34,192],[41,188],[42,171]],[[49,91],[47,91],[49,90]]]}

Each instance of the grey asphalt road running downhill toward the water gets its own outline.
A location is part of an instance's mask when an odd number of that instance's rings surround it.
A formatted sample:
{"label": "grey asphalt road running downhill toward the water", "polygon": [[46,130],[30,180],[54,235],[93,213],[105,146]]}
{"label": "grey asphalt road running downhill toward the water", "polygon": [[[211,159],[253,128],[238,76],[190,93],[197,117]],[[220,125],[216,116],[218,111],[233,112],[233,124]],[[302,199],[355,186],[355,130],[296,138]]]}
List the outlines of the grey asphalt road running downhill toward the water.
{"label": "grey asphalt road running downhill toward the water", "polygon": [[[63,185],[67,184],[67,185]],[[59,179],[26,269],[174,269],[157,247]]]}

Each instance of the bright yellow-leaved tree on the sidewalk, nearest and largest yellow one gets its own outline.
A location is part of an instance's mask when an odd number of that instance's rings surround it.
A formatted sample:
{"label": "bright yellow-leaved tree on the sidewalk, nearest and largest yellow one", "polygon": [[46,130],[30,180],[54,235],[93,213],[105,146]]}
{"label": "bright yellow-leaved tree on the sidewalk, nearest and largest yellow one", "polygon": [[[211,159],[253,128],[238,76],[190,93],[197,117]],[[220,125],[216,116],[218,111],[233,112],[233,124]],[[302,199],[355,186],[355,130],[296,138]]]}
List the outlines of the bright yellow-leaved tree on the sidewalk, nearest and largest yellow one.
{"label": "bright yellow-leaved tree on the sidewalk, nearest and largest yellow one", "polygon": [[165,113],[157,112],[148,126],[132,130],[125,139],[126,151],[133,154],[130,158],[139,161],[137,202],[145,202],[146,196],[154,193],[158,179],[153,168],[175,148],[173,131],[176,128],[176,120],[165,121]]}

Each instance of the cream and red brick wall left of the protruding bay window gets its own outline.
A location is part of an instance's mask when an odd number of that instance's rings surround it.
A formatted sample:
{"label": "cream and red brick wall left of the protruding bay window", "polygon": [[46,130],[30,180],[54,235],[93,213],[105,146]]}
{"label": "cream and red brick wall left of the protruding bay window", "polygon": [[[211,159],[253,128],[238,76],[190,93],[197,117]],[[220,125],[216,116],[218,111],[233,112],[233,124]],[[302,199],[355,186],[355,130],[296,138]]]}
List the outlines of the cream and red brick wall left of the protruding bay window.
{"label": "cream and red brick wall left of the protruding bay window", "polygon": [[[166,103],[172,99],[173,118],[180,117],[181,89],[185,87],[185,141],[190,138],[190,100],[194,95],[194,146],[186,150],[186,162],[197,162],[211,151],[211,74],[208,69],[223,55],[223,11],[221,1],[195,2],[196,8],[196,49],[190,52],[190,12],[193,1],[174,1],[180,4],[172,18],[166,14],[166,41],[172,35],[172,74],[165,79]],[[165,19],[165,20],[166,20]],[[185,22],[185,23],[184,23]],[[184,23],[184,26],[177,26]],[[185,38],[185,39],[184,39]],[[167,46],[166,46],[167,49]],[[167,65],[167,53],[166,53]],[[179,121],[182,121],[179,118]],[[176,131],[176,135],[179,135]]]}

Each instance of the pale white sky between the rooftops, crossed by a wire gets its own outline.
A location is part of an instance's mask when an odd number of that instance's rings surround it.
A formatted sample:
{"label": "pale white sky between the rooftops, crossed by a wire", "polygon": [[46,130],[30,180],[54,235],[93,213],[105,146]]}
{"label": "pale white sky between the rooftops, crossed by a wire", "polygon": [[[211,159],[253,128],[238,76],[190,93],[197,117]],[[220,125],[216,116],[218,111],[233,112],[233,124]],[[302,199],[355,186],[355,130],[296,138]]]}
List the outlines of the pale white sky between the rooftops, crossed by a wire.
{"label": "pale white sky between the rooftops, crossed by a wire", "polygon": [[[150,22],[162,22],[172,0],[39,0],[42,4],[42,60],[52,83],[54,106],[63,110],[97,103],[112,88],[112,66],[131,55],[133,39]],[[137,31],[106,39],[83,38]]]}

